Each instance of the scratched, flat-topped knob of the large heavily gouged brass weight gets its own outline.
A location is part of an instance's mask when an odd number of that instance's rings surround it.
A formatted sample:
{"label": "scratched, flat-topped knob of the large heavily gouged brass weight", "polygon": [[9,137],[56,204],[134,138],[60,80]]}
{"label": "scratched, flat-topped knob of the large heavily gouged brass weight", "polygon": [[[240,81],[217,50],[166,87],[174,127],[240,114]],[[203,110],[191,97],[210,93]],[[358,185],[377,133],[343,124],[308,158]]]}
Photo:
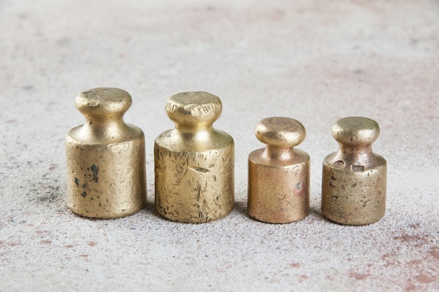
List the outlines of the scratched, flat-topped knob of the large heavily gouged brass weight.
{"label": "scratched, flat-topped knob of the large heavily gouged brass weight", "polygon": [[222,113],[221,100],[204,91],[177,93],[168,98],[166,114],[180,129],[210,128]]}

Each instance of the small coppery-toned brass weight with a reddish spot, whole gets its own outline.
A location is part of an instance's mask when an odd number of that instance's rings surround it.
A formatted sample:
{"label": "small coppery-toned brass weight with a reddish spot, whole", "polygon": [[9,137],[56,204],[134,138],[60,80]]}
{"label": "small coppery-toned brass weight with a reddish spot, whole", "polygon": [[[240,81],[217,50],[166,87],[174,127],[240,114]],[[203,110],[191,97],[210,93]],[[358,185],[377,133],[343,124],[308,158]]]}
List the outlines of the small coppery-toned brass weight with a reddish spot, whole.
{"label": "small coppery-toned brass weight with a reddish spot, whole", "polygon": [[305,138],[295,119],[259,121],[256,137],[266,144],[248,157],[248,214],[269,223],[290,223],[309,214],[309,155],[295,149]]}

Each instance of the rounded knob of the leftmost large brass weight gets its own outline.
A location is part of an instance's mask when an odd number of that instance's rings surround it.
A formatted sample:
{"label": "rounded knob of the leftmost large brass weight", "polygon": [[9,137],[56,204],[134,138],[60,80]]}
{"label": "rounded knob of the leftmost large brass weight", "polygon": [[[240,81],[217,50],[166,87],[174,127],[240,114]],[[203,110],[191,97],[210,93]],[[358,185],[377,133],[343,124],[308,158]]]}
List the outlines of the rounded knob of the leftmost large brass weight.
{"label": "rounded knob of the leftmost large brass weight", "polygon": [[121,117],[130,108],[131,95],[119,88],[93,88],[76,96],[75,104],[86,117]]}

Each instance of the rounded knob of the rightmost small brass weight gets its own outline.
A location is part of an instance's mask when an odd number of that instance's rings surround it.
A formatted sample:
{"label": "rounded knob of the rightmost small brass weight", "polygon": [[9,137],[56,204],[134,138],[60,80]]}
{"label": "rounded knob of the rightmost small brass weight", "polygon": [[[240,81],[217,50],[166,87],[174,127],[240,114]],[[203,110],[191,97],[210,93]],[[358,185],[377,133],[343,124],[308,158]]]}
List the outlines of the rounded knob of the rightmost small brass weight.
{"label": "rounded knob of the rightmost small brass weight", "polygon": [[332,126],[332,136],[345,146],[366,146],[377,140],[379,125],[365,117],[346,117]]}

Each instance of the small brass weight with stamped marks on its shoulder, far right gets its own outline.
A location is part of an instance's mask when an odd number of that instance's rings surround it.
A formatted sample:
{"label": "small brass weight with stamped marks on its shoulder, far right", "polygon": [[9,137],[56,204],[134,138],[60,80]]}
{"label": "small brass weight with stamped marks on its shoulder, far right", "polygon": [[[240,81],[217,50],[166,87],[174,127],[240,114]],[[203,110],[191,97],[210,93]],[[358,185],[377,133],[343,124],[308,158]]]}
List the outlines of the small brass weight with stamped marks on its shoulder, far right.
{"label": "small brass weight with stamped marks on its shoulder, far right", "polygon": [[386,211],[386,160],[372,152],[379,125],[365,117],[346,117],[332,126],[339,150],[323,161],[322,212],[347,225],[366,225]]}

